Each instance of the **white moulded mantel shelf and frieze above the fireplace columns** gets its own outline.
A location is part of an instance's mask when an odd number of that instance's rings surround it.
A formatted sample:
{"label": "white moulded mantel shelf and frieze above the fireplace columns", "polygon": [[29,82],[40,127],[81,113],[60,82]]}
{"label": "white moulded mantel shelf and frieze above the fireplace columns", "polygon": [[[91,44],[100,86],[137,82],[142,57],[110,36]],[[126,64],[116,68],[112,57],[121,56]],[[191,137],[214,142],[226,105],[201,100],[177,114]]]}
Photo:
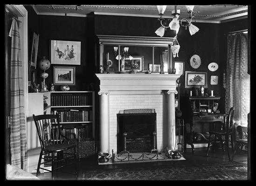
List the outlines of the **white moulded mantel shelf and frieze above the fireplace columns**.
{"label": "white moulded mantel shelf and frieze above the fireplace columns", "polygon": [[100,91],[122,90],[176,90],[179,74],[122,74],[96,73],[100,80]]}

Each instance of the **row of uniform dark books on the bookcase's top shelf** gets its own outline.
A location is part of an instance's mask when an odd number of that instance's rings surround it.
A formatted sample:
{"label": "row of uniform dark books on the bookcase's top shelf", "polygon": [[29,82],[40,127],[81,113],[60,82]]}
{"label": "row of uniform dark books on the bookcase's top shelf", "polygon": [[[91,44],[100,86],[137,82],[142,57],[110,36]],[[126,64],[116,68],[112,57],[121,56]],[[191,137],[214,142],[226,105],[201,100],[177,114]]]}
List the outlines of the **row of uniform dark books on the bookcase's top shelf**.
{"label": "row of uniform dark books on the bookcase's top shelf", "polygon": [[91,94],[56,94],[51,95],[51,106],[86,106],[92,105]]}

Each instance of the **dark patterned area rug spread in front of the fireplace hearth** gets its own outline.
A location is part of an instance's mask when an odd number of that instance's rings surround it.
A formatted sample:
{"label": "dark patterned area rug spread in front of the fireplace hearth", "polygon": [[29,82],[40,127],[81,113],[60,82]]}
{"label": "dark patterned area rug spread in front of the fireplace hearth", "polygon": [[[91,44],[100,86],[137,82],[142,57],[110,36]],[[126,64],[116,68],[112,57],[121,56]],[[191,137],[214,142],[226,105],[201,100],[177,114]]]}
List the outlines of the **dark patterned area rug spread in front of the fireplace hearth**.
{"label": "dark patterned area rug spread in front of the fireplace hearth", "polygon": [[247,180],[247,166],[234,162],[81,171],[79,180]]}

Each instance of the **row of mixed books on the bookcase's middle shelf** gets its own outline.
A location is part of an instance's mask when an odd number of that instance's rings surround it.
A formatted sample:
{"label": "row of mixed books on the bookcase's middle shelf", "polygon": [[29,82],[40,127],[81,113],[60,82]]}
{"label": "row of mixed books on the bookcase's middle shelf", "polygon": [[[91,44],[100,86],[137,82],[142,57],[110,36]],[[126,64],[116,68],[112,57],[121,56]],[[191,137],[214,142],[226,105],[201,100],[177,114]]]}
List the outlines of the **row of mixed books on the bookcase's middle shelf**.
{"label": "row of mixed books on the bookcase's middle shelf", "polygon": [[51,114],[58,113],[60,122],[92,121],[92,110],[65,109],[52,110],[51,112]]}

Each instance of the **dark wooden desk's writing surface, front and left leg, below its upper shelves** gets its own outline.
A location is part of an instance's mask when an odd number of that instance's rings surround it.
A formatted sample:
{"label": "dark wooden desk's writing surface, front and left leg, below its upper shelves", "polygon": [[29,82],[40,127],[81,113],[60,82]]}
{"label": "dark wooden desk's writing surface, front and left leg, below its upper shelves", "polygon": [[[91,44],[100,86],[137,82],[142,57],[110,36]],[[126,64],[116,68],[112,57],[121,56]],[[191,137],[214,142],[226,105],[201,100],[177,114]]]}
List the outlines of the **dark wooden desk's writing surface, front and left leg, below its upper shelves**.
{"label": "dark wooden desk's writing surface, front and left leg, below its upper shelves", "polygon": [[222,123],[221,130],[223,130],[223,124],[225,123],[226,117],[228,114],[223,113],[214,113],[214,114],[204,114],[204,113],[193,113],[193,122],[190,124],[190,144],[192,148],[192,153],[194,153],[194,144],[193,144],[193,125],[196,122],[201,123],[210,123],[209,130],[212,130],[215,128],[215,122],[220,121]]}

